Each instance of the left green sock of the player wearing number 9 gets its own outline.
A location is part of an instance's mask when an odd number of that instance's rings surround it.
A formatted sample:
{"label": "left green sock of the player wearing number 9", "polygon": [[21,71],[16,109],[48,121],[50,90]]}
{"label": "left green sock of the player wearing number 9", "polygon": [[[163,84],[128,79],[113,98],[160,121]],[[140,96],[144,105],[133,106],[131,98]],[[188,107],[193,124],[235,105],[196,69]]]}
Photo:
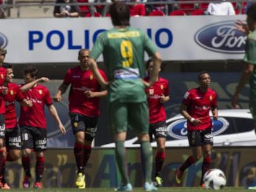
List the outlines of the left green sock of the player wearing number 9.
{"label": "left green sock of the player wearing number 9", "polygon": [[115,154],[117,166],[122,178],[122,184],[126,185],[129,183],[129,177],[127,173],[126,148],[124,148],[124,141],[116,141]]}

